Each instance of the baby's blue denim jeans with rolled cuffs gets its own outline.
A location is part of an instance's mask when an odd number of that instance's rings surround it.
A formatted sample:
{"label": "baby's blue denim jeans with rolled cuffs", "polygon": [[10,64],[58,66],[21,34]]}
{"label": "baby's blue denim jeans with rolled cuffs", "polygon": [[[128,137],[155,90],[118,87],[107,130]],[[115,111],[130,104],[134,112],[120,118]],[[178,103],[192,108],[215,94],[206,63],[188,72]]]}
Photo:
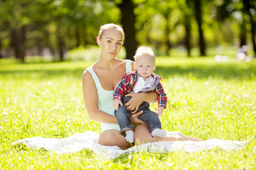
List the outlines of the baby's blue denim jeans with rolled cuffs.
{"label": "baby's blue denim jeans with rolled cuffs", "polygon": [[[130,125],[131,123],[131,112],[128,109],[126,109],[125,104],[131,99],[131,97],[123,97],[122,103],[123,106],[119,105],[118,111],[114,111],[115,117],[117,117],[118,124],[120,126],[121,131],[124,131],[126,129],[133,129],[133,126]],[[161,122],[159,120],[158,114],[155,112],[150,111],[149,109],[149,103],[143,102],[138,109],[139,111],[143,111],[143,113],[138,116],[139,120],[142,120],[145,122],[150,130],[150,133],[154,129],[162,129]]]}

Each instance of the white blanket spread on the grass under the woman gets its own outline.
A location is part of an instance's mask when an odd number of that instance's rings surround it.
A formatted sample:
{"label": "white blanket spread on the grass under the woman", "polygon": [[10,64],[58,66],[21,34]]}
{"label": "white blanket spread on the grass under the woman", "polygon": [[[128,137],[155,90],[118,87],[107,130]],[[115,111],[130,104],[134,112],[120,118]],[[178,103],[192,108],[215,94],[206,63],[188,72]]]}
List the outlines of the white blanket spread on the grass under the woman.
{"label": "white blanket spread on the grass under the woman", "polygon": [[[170,133],[170,132],[169,132]],[[225,141],[221,139],[209,139],[207,141],[192,142],[154,142],[147,143],[141,146],[133,146],[128,150],[121,150],[117,146],[102,146],[98,144],[99,135],[94,131],[86,131],[85,133],[76,133],[68,138],[56,139],[56,138],[42,138],[33,137],[20,139],[13,143],[13,145],[26,145],[32,149],[44,148],[50,151],[51,154],[64,154],[64,153],[75,153],[82,149],[95,152],[96,154],[105,155],[108,159],[114,159],[121,154],[126,152],[138,152],[138,151],[149,151],[149,152],[173,152],[173,151],[205,151],[218,148],[222,150],[236,150],[240,149],[247,141]]]}

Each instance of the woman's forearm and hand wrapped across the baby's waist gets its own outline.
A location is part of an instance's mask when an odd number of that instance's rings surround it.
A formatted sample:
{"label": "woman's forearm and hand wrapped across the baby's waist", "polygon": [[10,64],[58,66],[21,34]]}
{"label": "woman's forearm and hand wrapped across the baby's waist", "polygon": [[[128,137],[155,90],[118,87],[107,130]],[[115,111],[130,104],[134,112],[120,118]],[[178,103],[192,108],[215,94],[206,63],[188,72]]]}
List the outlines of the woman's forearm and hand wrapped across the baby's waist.
{"label": "woman's forearm and hand wrapped across the baby's waist", "polygon": [[141,105],[143,101],[146,101],[147,103],[156,103],[156,101],[158,101],[158,94],[156,92],[133,93],[125,96],[131,96],[131,99],[125,105],[129,111],[135,109],[131,112],[132,114],[137,113],[139,105]]}

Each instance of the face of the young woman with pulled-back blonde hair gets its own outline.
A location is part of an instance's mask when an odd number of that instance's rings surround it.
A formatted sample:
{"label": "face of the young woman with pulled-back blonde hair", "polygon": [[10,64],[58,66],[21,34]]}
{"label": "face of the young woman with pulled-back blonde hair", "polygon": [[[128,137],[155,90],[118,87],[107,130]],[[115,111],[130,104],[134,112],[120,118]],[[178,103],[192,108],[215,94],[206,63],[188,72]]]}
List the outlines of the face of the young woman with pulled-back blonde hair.
{"label": "face of the young woman with pulled-back blonde hair", "polygon": [[121,50],[123,35],[121,31],[110,28],[104,31],[101,39],[97,39],[97,43],[101,47],[101,55],[108,58],[115,58]]}

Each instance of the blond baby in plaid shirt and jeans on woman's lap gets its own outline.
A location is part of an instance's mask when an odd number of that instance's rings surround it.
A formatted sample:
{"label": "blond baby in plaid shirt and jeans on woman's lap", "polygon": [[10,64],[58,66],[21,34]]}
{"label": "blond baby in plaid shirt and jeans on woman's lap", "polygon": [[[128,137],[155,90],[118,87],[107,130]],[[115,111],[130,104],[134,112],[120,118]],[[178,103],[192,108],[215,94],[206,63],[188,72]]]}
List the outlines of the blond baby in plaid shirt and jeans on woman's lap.
{"label": "blond baby in plaid shirt and jeans on woman's lap", "polygon": [[135,56],[135,71],[125,74],[113,92],[113,108],[117,117],[118,124],[122,132],[126,134],[126,141],[134,142],[133,126],[130,125],[130,115],[125,104],[131,97],[125,97],[130,92],[151,92],[158,94],[158,108],[154,109],[157,113],[150,111],[149,103],[143,102],[138,109],[143,113],[138,116],[139,120],[145,122],[150,130],[151,135],[166,138],[167,132],[162,130],[159,117],[162,116],[163,110],[167,105],[167,97],[162,84],[159,82],[160,77],[153,73],[155,71],[155,55],[150,47],[141,46],[137,49]]}

